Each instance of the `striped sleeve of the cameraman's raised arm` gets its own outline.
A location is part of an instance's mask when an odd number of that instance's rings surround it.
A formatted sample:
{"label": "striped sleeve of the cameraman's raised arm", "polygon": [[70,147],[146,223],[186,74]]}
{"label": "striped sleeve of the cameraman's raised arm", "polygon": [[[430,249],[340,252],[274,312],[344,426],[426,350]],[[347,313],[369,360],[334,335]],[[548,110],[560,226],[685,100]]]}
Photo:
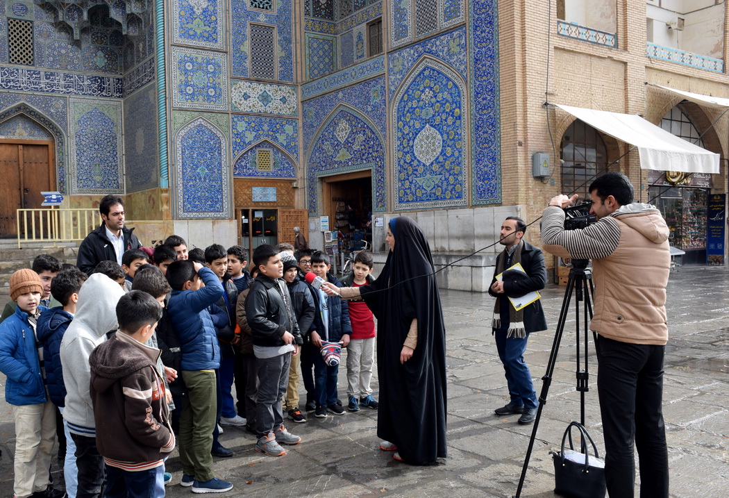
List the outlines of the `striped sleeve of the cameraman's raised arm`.
{"label": "striped sleeve of the cameraman's raised arm", "polygon": [[604,217],[582,230],[564,230],[564,211],[551,206],[542,214],[542,241],[564,247],[572,257],[599,260],[617,248],[620,227],[614,218]]}

